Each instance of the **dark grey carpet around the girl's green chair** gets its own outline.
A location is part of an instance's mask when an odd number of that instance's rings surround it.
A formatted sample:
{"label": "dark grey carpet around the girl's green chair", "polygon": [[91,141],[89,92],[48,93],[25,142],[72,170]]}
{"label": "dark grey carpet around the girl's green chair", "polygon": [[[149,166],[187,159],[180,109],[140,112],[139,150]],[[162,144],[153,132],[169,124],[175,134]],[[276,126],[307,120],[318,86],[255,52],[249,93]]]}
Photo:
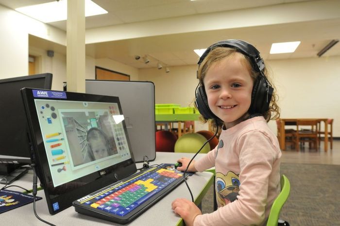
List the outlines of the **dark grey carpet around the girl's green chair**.
{"label": "dark grey carpet around the girl's green chair", "polygon": [[[281,163],[291,185],[280,218],[290,226],[340,226],[340,165]],[[213,211],[213,187],[202,212]]]}

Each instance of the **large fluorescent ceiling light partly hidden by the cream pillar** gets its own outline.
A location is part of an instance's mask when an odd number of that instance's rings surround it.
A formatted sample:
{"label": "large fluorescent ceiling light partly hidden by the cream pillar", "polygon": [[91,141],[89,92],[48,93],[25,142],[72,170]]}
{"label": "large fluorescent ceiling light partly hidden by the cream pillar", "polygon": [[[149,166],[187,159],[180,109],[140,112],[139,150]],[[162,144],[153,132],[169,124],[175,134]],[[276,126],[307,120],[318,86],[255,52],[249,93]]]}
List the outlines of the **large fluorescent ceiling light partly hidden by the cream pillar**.
{"label": "large fluorescent ceiling light partly hidden by the cream pillar", "polygon": [[[16,10],[26,16],[44,23],[66,20],[68,17],[68,0],[25,6]],[[85,0],[85,17],[106,14],[107,11],[91,0]]]}

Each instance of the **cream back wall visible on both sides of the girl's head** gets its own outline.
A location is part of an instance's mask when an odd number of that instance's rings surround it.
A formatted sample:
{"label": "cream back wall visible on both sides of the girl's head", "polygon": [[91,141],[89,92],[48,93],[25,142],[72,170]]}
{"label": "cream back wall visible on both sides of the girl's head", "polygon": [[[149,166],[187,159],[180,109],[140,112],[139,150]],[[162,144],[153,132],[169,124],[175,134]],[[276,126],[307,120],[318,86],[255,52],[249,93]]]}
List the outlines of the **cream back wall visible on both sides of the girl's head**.
{"label": "cream back wall visible on both sides of the girl's head", "polygon": [[[281,118],[333,118],[340,137],[340,56],[267,62],[278,89]],[[155,101],[187,106],[194,98],[197,66],[139,70],[139,80],[155,84]],[[269,126],[276,133],[276,123]]]}

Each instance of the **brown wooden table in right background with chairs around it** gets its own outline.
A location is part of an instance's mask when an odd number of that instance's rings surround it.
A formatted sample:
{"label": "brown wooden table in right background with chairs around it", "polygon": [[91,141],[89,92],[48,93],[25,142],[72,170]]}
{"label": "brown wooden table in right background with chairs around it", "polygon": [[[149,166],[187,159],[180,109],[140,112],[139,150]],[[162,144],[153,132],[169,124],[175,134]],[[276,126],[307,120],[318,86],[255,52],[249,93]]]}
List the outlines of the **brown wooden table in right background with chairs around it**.
{"label": "brown wooden table in right background with chairs around it", "polygon": [[327,120],[328,119],[280,119],[281,120],[281,128],[280,128],[280,147],[282,150],[286,150],[286,133],[285,133],[285,125],[296,125],[297,120],[317,120],[318,122],[324,123],[324,151],[328,150],[328,126]]}

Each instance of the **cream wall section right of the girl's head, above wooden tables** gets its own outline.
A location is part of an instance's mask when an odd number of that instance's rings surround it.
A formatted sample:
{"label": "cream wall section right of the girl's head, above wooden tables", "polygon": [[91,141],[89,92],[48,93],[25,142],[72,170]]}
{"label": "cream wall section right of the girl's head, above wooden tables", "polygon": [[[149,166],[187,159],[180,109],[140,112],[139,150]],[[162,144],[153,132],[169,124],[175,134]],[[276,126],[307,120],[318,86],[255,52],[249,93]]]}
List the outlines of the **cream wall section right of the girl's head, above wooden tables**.
{"label": "cream wall section right of the girl's head, above wooden tables", "polygon": [[340,56],[267,64],[279,92],[281,118],[333,118],[333,134],[340,137]]}

